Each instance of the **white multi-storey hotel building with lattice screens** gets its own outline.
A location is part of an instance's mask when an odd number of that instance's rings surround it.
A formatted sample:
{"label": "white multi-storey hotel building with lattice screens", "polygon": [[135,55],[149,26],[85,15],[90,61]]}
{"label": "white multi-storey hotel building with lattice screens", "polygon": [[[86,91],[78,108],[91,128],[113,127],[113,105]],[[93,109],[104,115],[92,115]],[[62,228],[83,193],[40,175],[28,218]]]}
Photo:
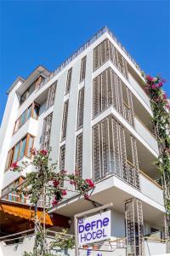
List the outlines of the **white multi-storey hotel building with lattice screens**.
{"label": "white multi-storey hotel building with lattice screens", "polygon": [[60,170],[77,169],[96,184],[92,201],[74,195],[52,212],[73,223],[77,212],[112,202],[112,238],[127,236],[127,245],[136,242],[139,255],[143,235],[156,232],[158,241],[144,241],[145,255],[165,253],[163,191],[153,165],[159,151],[142,82],[139,67],[107,28],[54,73],[40,66],[27,79],[17,78],[8,90],[1,125],[2,201],[20,201],[5,193],[29,172],[20,177],[10,165],[29,160],[30,148],[50,145]]}

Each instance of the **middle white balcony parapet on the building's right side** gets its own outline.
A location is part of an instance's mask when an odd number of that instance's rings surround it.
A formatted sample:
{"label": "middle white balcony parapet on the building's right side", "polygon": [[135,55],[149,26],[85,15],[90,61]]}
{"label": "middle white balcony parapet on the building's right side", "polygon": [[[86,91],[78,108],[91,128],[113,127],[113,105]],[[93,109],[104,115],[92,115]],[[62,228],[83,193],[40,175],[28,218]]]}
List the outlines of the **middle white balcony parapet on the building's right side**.
{"label": "middle white balcony parapet on the building's right side", "polygon": [[156,137],[150,132],[150,130],[144,125],[144,123],[137,117],[134,117],[135,130],[143,137],[144,141],[155,150],[156,154],[159,154],[158,144]]}

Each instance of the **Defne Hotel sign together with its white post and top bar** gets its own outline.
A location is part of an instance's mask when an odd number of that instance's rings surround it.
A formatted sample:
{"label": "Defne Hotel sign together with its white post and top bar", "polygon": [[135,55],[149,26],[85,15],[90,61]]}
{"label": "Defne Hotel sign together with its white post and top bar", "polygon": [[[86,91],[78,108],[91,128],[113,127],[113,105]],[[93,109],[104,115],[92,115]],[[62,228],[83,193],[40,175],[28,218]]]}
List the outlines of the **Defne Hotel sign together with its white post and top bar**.
{"label": "Defne Hotel sign together with its white post and top bar", "polygon": [[[111,211],[102,212],[113,207],[113,203],[96,207],[86,212],[78,213],[74,216],[75,226],[75,255],[78,256],[78,246],[92,241],[109,239],[111,236]],[[102,212],[91,215],[96,212]],[[91,215],[83,221],[82,217]],[[78,219],[80,221],[78,222]]]}

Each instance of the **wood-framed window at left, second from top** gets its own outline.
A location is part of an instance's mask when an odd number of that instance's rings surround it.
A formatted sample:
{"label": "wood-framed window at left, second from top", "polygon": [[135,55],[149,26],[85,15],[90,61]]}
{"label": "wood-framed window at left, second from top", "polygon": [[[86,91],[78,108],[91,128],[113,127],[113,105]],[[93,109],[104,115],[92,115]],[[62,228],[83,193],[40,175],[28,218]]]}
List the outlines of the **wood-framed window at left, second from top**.
{"label": "wood-framed window at left, second from top", "polygon": [[18,131],[20,127],[24,125],[26,121],[31,117],[34,119],[37,119],[39,114],[39,108],[40,108],[39,105],[33,102],[31,106],[27,108],[24,113],[20,115],[20,118],[16,120],[14,124],[14,133]]}

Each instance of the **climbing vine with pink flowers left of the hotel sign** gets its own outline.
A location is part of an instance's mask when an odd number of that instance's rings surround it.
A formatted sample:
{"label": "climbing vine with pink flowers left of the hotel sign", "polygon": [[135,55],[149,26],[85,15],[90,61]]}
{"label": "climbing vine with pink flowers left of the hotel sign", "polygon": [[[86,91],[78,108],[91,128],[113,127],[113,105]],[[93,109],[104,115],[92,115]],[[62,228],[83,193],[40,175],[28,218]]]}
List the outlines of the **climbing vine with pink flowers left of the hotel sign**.
{"label": "climbing vine with pink flowers left of the hotel sign", "polygon": [[[77,191],[88,200],[88,191],[94,189],[94,183],[91,179],[82,179],[78,172],[68,174],[62,170],[56,172],[56,164],[50,164],[49,157],[51,150],[31,150],[31,162],[23,161],[19,166],[17,162],[11,166],[13,172],[22,172],[27,166],[31,165],[31,172],[26,174],[26,181],[17,189],[20,191],[20,197],[25,196],[34,207],[34,224],[35,224],[35,243],[33,253],[25,252],[24,256],[52,256],[54,247],[68,249],[73,247],[71,236],[66,236],[62,241],[60,236],[56,237],[53,243],[47,242],[47,230],[45,226],[46,214],[51,205],[56,206],[67,195],[65,182],[74,186],[73,190]],[[43,214],[41,218],[37,217],[38,201],[42,200]],[[64,243],[63,243],[64,242]]]}

